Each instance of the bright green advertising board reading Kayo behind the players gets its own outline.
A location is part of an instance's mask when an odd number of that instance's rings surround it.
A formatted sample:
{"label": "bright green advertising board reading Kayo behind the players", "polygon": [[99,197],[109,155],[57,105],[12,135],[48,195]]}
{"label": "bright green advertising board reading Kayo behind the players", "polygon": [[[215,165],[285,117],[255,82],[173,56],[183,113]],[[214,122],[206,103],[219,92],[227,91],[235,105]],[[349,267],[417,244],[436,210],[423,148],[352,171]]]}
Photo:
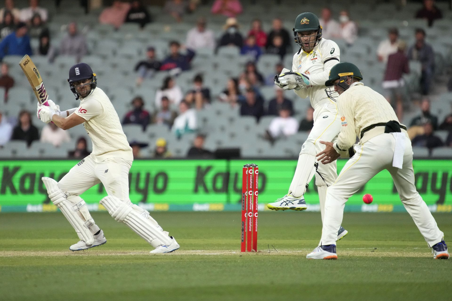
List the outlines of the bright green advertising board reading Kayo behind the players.
{"label": "bright green advertising board reading Kayo behind the players", "polygon": [[[338,170],[342,169],[345,162],[346,160],[338,161]],[[33,211],[35,208],[34,211],[46,211],[42,206],[52,208],[52,204],[47,205],[49,199],[41,177],[59,180],[76,163],[74,160],[0,161],[0,210],[23,211],[21,208],[28,208],[25,211]],[[242,166],[245,163],[259,165],[259,202],[263,209],[264,204],[287,193],[297,161],[135,160],[129,174],[130,199],[134,203],[152,204],[148,206],[151,209],[239,210]],[[437,208],[440,208],[439,211],[452,211],[452,161],[414,160],[413,166],[415,184],[424,201],[437,211]],[[391,176],[386,170],[377,174],[351,197],[347,206],[362,208],[365,193],[371,193],[373,204],[379,206],[373,211],[385,211],[385,208],[386,211],[394,211],[395,207],[401,205]],[[98,206],[99,200],[105,195],[105,189],[100,184],[81,196],[88,204]],[[316,208],[318,196],[314,180],[310,183],[305,198],[308,204],[314,204]],[[48,211],[52,210],[56,209]]]}

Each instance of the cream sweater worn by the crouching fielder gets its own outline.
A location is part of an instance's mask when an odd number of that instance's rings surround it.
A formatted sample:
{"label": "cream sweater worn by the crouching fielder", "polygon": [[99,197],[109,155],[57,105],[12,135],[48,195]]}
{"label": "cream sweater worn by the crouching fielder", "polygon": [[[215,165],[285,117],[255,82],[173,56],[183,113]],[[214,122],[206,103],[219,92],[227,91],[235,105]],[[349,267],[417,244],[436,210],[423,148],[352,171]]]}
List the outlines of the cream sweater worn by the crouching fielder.
{"label": "cream sweater worn by the crouching fielder", "polygon": [[[344,93],[339,95],[337,103],[342,127],[334,149],[342,158],[349,157],[348,150],[355,144],[356,136],[361,137],[362,129],[376,123],[399,121],[387,100],[361,82],[350,85]],[[359,144],[384,132],[385,127],[374,127],[364,133]],[[402,132],[408,137],[404,129]]]}

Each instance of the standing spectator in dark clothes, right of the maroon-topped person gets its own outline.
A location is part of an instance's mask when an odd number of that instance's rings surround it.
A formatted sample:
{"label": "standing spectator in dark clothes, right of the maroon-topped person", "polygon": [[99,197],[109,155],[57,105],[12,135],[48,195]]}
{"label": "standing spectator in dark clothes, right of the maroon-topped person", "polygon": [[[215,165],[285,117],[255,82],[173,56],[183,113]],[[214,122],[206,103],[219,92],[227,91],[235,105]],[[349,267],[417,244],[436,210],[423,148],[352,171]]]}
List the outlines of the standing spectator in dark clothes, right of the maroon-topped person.
{"label": "standing spectator in dark clothes, right of the maroon-topped person", "polygon": [[430,91],[430,83],[433,77],[433,70],[435,65],[435,54],[433,48],[425,42],[425,31],[422,28],[417,28],[415,31],[416,42],[408,50],[408,59],[419,61],[422,65],[421,69],[421,92],[427,95]]}

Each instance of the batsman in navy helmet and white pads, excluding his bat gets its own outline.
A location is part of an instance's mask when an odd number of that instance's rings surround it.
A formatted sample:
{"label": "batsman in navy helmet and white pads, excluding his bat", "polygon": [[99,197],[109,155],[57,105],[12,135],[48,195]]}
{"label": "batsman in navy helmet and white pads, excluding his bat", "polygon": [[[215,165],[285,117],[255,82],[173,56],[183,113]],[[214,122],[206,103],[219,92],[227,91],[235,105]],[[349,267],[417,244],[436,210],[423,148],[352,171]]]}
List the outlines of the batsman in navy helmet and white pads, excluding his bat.
{"label": "batsman in navy helmet and white pads, excluding his bat", "polygon": [[149,212],[130,202],[128,174],[133,161],[132,148],[122,131],[118,113],[104,91],[97,88],[95,73],[87,64],[78,63],[71,67],[68,82],[76,99],[80,98],[80,106],[61,112],[59,106],[48,100],[49,106],[38,104],[38,118],[45,123],[52,121],[64,130],[83,123],[93,142],[93,152],[60,182],[42,178],[49,198],[80,238],[69,249],[79,251],[107,242],[80,198],[81,193],[101,182],[108,196],[100,203],[116,221],[125,223],[150,243],[155,248],[151,253],[179,249],[176,240],[163,231]]}

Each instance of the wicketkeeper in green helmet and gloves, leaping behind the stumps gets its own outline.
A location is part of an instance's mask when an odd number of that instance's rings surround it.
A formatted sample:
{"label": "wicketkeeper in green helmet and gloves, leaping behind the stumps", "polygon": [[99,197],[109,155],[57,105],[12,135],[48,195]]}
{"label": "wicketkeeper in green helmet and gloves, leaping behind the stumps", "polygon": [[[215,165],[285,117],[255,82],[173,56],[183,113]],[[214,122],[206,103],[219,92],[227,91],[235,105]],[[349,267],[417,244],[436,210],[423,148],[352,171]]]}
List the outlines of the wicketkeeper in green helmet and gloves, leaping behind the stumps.
{"label": "wicketkeeper in green helmet and gloves, leaping behind the stumps", "polygon": [[[275,84],[284,90],[293,90],[303,99],[309,97],[314,108],[314,126],[301,146],[288,193],[267,206],[272,210],[305,210],[303,195],[315,175],[324,221],[326,189],[335,182],[337,168],[335,163],[324,165],[317,162],[315,155],[325,149],[320,141],[336,141],[341,128],[336,101],[325,94],[325,81],[331,68],[339,63],[340,50],[335,42],[322,38],[322,27],[315,14],[299,14],[293,34],[300,50],[293,56],[292,71],[284,68],[281,74],[275,76]],[[337,239],[347,233],[340,227]]]}

